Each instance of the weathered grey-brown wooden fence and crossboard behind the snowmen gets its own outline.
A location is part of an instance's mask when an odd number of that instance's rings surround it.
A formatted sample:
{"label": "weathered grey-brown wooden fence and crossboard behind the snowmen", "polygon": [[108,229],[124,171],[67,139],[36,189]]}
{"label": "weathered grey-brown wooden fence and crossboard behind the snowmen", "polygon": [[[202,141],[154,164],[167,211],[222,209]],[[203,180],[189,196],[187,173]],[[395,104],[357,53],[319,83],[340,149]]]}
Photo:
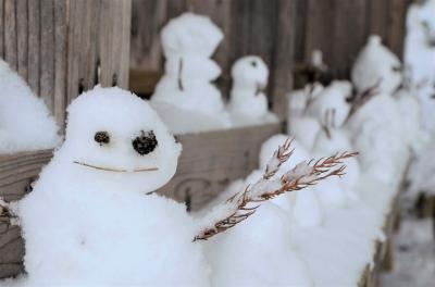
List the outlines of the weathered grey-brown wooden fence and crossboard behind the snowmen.
{"label": "weathered grey-brown wooden fence and crossboard behind the snowmen", "polygon": [[[294,66],[313,49],[346,77],[368,35],[400,53],[408,0],[0,0],[0,57],[41,97],[62,127],[65,107],[95,84],[150,95],[162,74],[159,32],[184,11],[210,15],[225,39],[214,59],[226,97],[232,63],[259,54],[271,70],[269,97],[285,118]],[[129,61],[128,61],[129,59]],[[130,75],[128,75],[130,74]],[[281,124],[181,136],[175,177],[160,192],[196,210],[258,165],[264,139]],[[51,151],[0,154],[0,196],[20,199]],[[0,224],[0,277],[22,272],[17,227]]]}

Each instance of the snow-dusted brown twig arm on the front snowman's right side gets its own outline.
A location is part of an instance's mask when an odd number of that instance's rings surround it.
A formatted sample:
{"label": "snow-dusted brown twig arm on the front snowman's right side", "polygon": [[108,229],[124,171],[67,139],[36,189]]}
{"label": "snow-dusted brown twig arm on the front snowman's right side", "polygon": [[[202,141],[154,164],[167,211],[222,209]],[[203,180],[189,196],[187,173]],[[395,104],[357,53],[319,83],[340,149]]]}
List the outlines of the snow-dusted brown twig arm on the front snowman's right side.
{"label": "snow-dusted brown twig arm on the front snowman's right side", "polygon": [[252,215],[263,201],[315,185],[330,176],[343,176],[346,167],[343,161],[358,154],[343,152],[318,161],[301,162],[281,178],[273,178],[281,165],[291,155],[290,144],[290,140],[286,140],[278,147],[268,163],[263,176],[256,184],[247,186],[244,191],[215,207],[202,219],[201,228],[194,241],[207,240],[234,227]]}

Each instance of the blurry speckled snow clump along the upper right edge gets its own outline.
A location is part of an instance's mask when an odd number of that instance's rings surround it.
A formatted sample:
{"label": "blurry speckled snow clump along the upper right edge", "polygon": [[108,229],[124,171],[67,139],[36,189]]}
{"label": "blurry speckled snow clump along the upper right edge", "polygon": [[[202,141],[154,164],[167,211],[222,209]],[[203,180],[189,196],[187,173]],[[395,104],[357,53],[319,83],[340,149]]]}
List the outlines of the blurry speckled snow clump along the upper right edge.
{"label": "blurry speckled snow clump along the upper right edge", "polygon": [[422,107],[425,129],[435,132],[435,0],[410,5],[407,15],[405,64],[409,85]]}

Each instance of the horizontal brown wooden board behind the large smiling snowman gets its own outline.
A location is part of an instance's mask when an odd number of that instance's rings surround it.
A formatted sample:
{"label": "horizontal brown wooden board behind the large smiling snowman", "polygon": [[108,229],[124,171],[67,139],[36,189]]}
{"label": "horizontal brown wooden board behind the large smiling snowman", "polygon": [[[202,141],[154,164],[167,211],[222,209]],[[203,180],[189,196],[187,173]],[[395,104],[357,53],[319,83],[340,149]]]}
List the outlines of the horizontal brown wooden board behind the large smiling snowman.
{"label": "horizontal brown wooden board behind the large smiling snowman", "polygon": [[[281,132],[281,125],[269,124],[178,136],[183,153],[177,172],[159,192],[198,210],[229,182],[257,169],[262,142]],[[51,157],[50,150],[0,155],[0,197],[7,201],[22,198]],[[0,278],[23,271],[23,253],[18,228],[0,224]]]}

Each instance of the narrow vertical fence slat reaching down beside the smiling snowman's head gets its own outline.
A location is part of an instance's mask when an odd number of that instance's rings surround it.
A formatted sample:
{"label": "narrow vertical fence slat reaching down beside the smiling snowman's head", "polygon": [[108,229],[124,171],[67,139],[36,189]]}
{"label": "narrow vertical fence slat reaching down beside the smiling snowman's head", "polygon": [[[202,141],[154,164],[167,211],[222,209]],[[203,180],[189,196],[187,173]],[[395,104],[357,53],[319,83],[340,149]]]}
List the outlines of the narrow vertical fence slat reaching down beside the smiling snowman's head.
{"label": "narrow vertical fence slat reaching down beside the smiling snowman's head", "polygon": [[63,130],[66,109],[66,1],[54,1],[54,118]]}

